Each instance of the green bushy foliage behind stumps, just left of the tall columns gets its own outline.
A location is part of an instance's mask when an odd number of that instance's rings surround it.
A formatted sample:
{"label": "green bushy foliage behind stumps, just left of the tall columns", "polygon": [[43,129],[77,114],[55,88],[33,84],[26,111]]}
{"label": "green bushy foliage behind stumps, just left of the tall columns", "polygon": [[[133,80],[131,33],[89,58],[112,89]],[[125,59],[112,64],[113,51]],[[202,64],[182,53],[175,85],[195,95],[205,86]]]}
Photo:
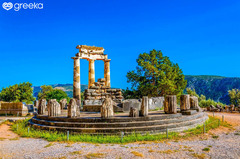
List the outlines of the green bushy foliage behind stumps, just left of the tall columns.
{"label": "green bushy foliage behind stumps, just left of the tall columns", "polygon": [[38,93],[38,99],[56,99],[60,102],[61,99],[67,99],[69,101],[69,97],[66,92],[61,89],[53,89],[52,86],[41,86],[42,90]]}

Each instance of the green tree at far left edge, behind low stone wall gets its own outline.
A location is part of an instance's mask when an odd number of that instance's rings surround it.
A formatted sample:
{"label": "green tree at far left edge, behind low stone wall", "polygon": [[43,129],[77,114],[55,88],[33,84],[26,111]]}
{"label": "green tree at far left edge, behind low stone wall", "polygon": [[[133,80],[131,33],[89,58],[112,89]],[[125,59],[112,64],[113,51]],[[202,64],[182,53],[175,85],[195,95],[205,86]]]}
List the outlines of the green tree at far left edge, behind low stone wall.
{"label": "green tree at far left edge, behind low stone wall", "polygon": [[35,100],[33,97],[32,84],[23,82],[3,88],[0,93],[0,100],[5,102],[25,102],[31,104]]}

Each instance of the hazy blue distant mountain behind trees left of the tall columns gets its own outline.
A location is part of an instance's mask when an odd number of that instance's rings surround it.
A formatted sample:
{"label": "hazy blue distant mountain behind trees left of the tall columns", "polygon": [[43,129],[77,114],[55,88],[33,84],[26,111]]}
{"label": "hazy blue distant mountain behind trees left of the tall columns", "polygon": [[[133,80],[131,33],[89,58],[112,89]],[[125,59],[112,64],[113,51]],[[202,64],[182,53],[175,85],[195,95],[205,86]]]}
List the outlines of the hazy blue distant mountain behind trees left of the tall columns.
{"label": "hazy blue distant mountain behind trees left of the tall columns", "polygon": [[[73,85],[72,84],[54,84],[51,85],[53,88],[61,89],[67,93],[67,95],[72,98],[73,97]],[[87,85],[81,85],[81,91],[87,89]],[[37,97],[38,93],[41,91],[40,86],[33,87],[33,96]]]}

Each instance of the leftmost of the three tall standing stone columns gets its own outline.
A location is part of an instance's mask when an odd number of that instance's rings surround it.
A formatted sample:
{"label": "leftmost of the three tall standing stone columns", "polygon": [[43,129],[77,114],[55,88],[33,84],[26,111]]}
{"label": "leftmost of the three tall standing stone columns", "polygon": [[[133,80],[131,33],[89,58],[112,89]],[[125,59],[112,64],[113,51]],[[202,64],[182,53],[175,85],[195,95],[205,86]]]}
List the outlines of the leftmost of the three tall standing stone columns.
{"label": "leftmost of the three tall standing stone columns", "polygon": [[78,57],[72,57],[74,60],[73,69],[73,98],[77,99],[81,103],[81,84],[80,84],[80,59]]}

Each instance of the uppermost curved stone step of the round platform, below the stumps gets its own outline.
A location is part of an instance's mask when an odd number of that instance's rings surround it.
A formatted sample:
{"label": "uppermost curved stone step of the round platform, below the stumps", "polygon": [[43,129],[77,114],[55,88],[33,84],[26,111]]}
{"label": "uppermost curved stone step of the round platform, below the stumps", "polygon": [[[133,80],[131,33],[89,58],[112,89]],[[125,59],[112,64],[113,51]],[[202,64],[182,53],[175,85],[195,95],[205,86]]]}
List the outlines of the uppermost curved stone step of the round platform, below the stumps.
{"label": "uppermost curved stone step of the round platform, below the stumps", "polygon": [[150,121],[150,120],[164,120],[164,119],[173,119],[179,118],[183,115],[181,113],[177,114],[163,114],[156,113],[155,115],[149,115],[148,117],[127,117],[127,116],[117,116],[108,119],[102,119],[101,117],[80,117],[80,118],[67,118],[67,117],[49,117],[46,115],[37,115],[37,118],[40,120],[48,121],[59,121],[59,122],[79,122],[79,123],[117,123],[117,122],[133,122],[133,121]]}

